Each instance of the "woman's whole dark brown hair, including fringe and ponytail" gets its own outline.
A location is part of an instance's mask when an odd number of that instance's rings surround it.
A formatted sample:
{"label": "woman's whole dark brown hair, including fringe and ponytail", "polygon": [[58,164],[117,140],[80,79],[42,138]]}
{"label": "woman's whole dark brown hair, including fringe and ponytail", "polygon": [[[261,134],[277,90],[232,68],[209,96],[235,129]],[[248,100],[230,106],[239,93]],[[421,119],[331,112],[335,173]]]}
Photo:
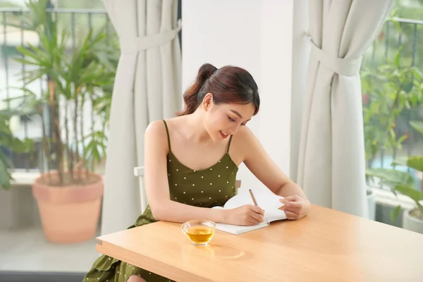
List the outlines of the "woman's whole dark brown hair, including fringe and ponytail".
{"label": "woman's whole dark brown hair, including fringe and ponytail", "polygon": [[252,102],[255,106],[254,114],[259,111],[259,90],[250,73],[236,66],[217,69],[210,63],[204,63],[198,70],[194,84],[183,94],[185,111],[179,116],[194,113],[207,93],[213,94],[214,104]]}

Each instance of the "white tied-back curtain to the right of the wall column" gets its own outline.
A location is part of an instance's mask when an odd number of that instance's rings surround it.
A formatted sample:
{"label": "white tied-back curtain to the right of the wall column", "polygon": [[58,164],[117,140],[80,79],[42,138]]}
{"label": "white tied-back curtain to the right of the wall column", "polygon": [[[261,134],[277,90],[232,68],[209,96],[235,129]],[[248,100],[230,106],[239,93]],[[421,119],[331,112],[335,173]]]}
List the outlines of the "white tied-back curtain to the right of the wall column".
{"label": "white tied-back curtain to the right of the wall column", "polygon": [[360,66],[393,0],[309,0],[312,52],[298,184],[313,204],[367,217]]}

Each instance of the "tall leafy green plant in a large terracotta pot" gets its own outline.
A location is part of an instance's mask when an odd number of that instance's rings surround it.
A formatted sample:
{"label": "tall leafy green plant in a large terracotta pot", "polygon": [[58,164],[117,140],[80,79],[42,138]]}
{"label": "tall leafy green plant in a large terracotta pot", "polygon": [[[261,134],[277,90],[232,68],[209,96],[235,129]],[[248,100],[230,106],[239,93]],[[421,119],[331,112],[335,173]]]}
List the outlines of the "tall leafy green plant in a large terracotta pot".
{"label": "tall leafy green plant in a large terracotta pot", "polygon": [[25,83],[47,78],[47,92],[41,98],[23,87],[25,101],[42,116],[47,159],[32,193],[46,238],[54,243],[80,242],[97,231],[103,178],[94,171],[94,164],[104,157],[99,148],[105,151],[106,147],[102,131],[93,135],[85,128],[87,120],[94,123],[94,116],[85,118],[84,109],[87,102],[96,104],[113,82],[109,58],[116,51],[106,42],[104,29],[96,34],[90,30],[73,47],[65,32],[59,34],[56,19],[46,11],[46,0],[30,1],[27,7],[30,13],[24,27],[37,32],[39,47],[17,47],[25,57],[16,61],[39,67],[23,73]]}

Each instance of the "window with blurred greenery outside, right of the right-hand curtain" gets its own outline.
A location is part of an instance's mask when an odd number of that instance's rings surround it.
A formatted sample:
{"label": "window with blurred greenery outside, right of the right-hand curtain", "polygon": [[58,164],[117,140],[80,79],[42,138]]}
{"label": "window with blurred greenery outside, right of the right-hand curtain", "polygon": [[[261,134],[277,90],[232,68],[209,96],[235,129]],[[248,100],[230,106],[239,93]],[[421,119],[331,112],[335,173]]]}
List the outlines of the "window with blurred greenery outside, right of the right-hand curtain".
{"label": "window with blurred greenery outside, right of the right-hand curtain", "polygon": [[393,161],[423,154],[423,135],[410,124],[423,121],[422,15],[422,1],[396,1],[360,73],[367,167],[409,172],[416,190],[423,189],[422,174]]}

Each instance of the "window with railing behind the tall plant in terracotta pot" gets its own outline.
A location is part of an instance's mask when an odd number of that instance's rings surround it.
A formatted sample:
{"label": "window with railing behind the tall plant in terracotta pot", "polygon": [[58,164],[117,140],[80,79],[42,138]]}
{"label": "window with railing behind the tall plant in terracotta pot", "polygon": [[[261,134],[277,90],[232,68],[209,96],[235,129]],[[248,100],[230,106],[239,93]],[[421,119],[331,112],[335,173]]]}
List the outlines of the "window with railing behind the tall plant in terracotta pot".
{"label": "window with railing behind the tall plant in terracotta pot", "polygon": [[[24,56],[25,54],[19,51],[19,48],[33,52],[30,44],[39,47],[41,38],[39,33],[30,28],[40,18],[32,17],[28,8],[23,6],[26,2],[9,1],[7,6],[5,4],[6,7],[4,7],[1,5],[4,2],[0,0],[0,114],[11,116],[10,127],[14,137],[18,137],[20,140],[29,138],[34,142],[35,147],[30,153],[18,154],[12,152],[6,146],[1,146],[0,139],[0,150],[11,160],[15,176],[17,174],[32,176],[29,173],[32,171],[35,172],[35,176],[39,176],[40,171],[46,170],[49,161],[52,163],[49,168],[54,169],[56,166],[54,164],[56,156],[54,148],[46,149],[42,142],[43,135],[47,136],[47,139],[54,137],[52,134],[54,126],[52,126],[52,119],[50,118],[51,107],[46,106],[47,103],[42,101],[48,87],[51,87],[51,77],[54,75],[42,75],[30,83],[27,83],[28,80],[22,80],[31,71],[37,72],[40,68],[40,66],[19,61],[29,57]],[[37,1],[33,2],[37,3]],[[77,4],[78,6],[75,6]],[[82,39],[87,36],[91,27],[93,33],[98,32],[104,36],[104,39],[99,40],[103,47],[106,45],[111,49],[116,47],[113,54],[108,53],[111,57],[100,58],[104,59],[104,64],[109,63],[107,73],[102,72],[102,76],[109,78],[109,81],[104,82],[103,87],[95,87],[92,92],[90,91],[90,94],[96,99],[89,99],[90,101],[87,99],[85,106],[80,111],[73,111],[75,102],[63,99],[63,93],[60,96],[61,98],[58,98],[59,109],[62,113],[59,118],[62,129],[61,139],[63,139],[63,144],[69,148],[68,156],[73,155],[76,148],[84,147],[81,143],[87,147],[88,141],[81,142],[84,139],[82,135],[97,133],[106,127],[104,123],[108,121],[114,71],[116,71],[119,56],[118,40],[113,27],[109,23],[109,17],[104,11],[102,0],[52,0],[49,1],[49,7],[48,10],[44,9],[45,14],[42,13],[47,18],[47,23],[50,19],[56,20],[57,25],[54,25],[56,26],[54,28],[56,28],[56,35],[59,38],[61,38],[62,32],[66,32],[66,37],[63,37],[65,38],[63,50],[55,49],[51,51],[51,54],[61,52],[61,57],[56,58],[56,61],[65,61],[64,57],[82,44]],[[54,9],[58,7],[60,9]],[[49,27],[50,31],[54,30],[51,26]],[[102,46],[97,47],[102,49]],[[62,65],[57,64],[56,66],[58,66],[56,71],[59,72]],[[84,66],[84,68],[92,67],[89,63]],[[66,85],[63,75],[58,77],[59,80],[55,82]],[[57,87],[55,91],[61,90]],[[33,94],[33,96],[30,94]],[[81,103],[80,99],[78,99],[78,103]],[[66,116],[68,123],[65,122]],[[69,128],[73,128],[73,125],[76,124],[78,130],[82,128],[80,130],[82,134],[75,137],[74,130],[68,130],[69,134],[65,136],[65,123],[68,124]],[[105,141],[102,145],[105,146]],[[102,168],[99,167],[98,169],[101,170]],[[1,176],[3,175],[0,173]],[[19,183],[26,185],[17,185],[11,190],[4,190],[0,187],[0,213],[6,215],[1,216],[0,219],[0,250],[6,250],[0,251],[0,271],[86,272],[98,257],[98,253],[94,249],[94,238],[71,246],[54,244],[46,240],[40,222],[37,202],[35,202],[30,188],[32,180],[33,178],[28,178],[25,183]],[[27,247],[25,247],[25,244],[28,244]],[[33,257],[33,255],[37,257]],[[57,259],[58,257],[62,257],[62,259]],[[32,278],[36,276],[35,274],[31,275]],[[41,281],[44,280],[43,277],[38,278]],[[14,279],[11,278],[11,280]]]}

